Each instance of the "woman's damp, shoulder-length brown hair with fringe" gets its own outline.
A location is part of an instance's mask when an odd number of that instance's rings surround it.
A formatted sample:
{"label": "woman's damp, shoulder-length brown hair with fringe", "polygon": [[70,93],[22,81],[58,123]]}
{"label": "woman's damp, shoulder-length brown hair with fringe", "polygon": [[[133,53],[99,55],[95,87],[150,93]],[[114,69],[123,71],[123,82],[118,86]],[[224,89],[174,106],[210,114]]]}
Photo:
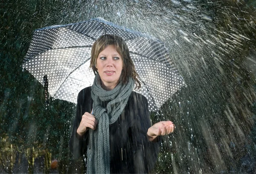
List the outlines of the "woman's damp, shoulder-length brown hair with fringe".
{"label": "woman's damp, shoulder-length brown hair with fringe", "polygon": [[129,80],[129,77],[131,77],[135,80],[136,88],[139,89],[141,87],[139,75],[135,70],[133,61],[131,60],[128,46],[125,44],[125,41],[119,36],[102,35],[95,41],[92,46],[90,60],[90,68],[92,68],[93,73],[98,73],[98,70],[96,68],[96,61],[99,53],[102,52],[109,45],[115,46],[116,51],[122,57],[123,67],[119,82],[126,84]]}

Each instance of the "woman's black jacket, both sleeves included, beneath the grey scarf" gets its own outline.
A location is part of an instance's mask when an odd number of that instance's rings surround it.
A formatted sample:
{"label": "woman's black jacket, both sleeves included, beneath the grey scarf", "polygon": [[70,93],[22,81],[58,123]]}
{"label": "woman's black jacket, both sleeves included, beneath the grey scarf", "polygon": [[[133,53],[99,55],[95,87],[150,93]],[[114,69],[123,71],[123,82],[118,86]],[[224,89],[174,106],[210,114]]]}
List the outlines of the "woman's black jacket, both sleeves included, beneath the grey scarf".
{"label": "woman's black jacket, both sleeves included, beneath the grey scarf", "polygon": [[[103,103],[105,107],[107,102]],[[76,116],[70,138],[70,151],[74,159],[86,155],[88,132],[81,138],[76,130],[85,112],[91,113],[93,99],[91,87],[79,92]],[[151,122],[147,99],[135,92],[129,96],[128,103],[119,118],[109,125],[111,173],[148,173],[157,160],[159,143],[149,142],[148,128]]]}

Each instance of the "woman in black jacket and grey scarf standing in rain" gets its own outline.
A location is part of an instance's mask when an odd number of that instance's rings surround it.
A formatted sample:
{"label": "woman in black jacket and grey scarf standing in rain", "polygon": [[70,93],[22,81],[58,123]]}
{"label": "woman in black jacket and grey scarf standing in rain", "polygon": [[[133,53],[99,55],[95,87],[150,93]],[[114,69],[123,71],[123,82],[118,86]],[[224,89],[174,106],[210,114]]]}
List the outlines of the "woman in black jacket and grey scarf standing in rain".
{"label": "woman in black jacket and grey scarf standing in rain", "polygon": [[148,173],[159,136],[173,132],[173,123],[151,126],[147,99],[132,91],[140,81],[122,38],[102,35],[92,46],[90,67],[96,75],[78,95],[73,157],[87,154],[87,173]]}

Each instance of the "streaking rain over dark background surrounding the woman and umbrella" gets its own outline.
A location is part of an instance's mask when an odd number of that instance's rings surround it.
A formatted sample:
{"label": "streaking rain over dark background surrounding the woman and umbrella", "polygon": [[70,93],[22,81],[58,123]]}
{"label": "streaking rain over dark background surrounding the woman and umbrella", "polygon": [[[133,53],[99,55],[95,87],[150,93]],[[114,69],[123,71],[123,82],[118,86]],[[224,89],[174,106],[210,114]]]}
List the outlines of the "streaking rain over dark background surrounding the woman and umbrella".
{"label": "streaking rain over dark background surrounding the woman and umbrella", "polygon": [[[168,48],[186,86],[151,173],[256,173],[254,0],[4,0],[0,9],[0,173],[83,173],[68,147],[76,104],[49,97],[22,64],[35,29],[101,17]],[[81,159],[82,160],[82,159]]]}

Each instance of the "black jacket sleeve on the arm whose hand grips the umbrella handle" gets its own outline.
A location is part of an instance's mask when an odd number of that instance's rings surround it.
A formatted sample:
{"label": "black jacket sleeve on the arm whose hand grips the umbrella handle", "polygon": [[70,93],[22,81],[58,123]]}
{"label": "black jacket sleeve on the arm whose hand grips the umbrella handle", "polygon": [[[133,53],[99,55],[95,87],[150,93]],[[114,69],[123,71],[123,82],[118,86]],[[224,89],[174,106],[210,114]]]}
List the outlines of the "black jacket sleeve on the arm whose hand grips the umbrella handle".
{"label": "black jacket sleeve on the arm whose hand grips the umbrella handle", "polygon": [[76,133],[77,128],[80,125],[81,118],[82,118],[82,93],[79,93],[77,98],[77,105],[76,105],[76,115],[73,122],[73,129],[70,137],[70,151],[73,154],[73,159],[78,159],[79,157],[83,156],[87,151],[88,145],[88,132],[84,133],[83,136],[79,136]]}

